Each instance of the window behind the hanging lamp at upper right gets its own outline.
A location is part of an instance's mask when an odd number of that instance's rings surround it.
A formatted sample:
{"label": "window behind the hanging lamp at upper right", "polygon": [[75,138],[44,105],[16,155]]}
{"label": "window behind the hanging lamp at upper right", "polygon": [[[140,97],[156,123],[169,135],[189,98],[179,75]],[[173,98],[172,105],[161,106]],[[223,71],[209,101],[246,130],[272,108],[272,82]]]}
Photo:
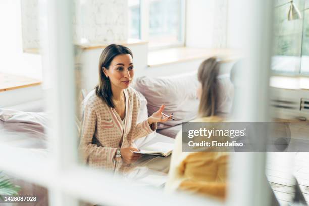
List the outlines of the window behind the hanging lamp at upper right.
{"label": "window behind the hanging lamp at upper right", "polygon": [[304,0],[293,1],[302,18],[288,20],[291,3],[286,0],[275,1],[274,8],[274,49],[272,69],[285,74],[305,74],[309,72],[309,7]]}

